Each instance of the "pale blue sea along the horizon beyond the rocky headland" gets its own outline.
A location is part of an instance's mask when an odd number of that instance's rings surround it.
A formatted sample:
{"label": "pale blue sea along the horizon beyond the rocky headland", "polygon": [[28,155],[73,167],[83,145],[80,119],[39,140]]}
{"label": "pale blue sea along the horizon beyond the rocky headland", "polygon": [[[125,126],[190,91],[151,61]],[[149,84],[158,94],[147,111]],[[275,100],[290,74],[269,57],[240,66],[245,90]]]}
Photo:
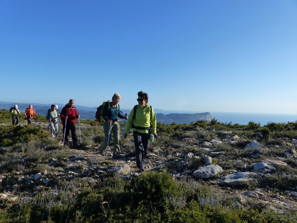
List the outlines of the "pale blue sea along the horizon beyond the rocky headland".
{"label": "pale blue sea along the horizon beyond the rocky headland", "polygon": [[[165,111],[163,114],[179,113],[179,114],[194,114],[203,113],[196,111]],[[271,113],[248,113],[248,112],[209,112],[211,116],[217,119],[221,123],[241,124],[247,125],[250,121],[260,123],[261,126],[266,125],[269,122],[274,123],[287,123],[296,122],[297,114],[271,114]]]}

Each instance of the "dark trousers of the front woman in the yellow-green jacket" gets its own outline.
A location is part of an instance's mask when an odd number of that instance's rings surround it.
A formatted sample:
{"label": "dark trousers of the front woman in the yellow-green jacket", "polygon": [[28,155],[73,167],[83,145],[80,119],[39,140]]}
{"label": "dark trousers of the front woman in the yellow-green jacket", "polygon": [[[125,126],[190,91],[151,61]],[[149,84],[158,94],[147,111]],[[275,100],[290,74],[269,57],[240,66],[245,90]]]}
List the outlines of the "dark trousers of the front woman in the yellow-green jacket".
{"label": "dark trousers of the front woman in the yellow-green jacket", "polygon": [[136,150],[136,166],[144,166],[144,158],[149,151],[149,133],[140,133],[138,131],[133,131],[134,145]]}

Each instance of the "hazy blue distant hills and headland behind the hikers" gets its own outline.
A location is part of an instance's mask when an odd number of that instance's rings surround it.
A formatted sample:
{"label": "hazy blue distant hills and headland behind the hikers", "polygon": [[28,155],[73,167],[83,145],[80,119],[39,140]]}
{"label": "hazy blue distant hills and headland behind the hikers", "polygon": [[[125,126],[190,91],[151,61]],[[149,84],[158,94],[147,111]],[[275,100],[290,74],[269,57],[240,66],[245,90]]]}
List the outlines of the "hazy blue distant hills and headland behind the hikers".
{"label": "hazy blue distant hills and headland behind the hikers", "polygon": [[[24,113],[26,108],[29,107],[30,103],[11,103],[11,102],[3,102],[0,101],[0,109],[7,109],[9,110],[11,107],[13,107],[14,104],[18,105],[18,109],[21,113]],[[50,109],[51,104],[40,104],[40,103],[31,103],[33,105],[33,108],[35,112],[39,115],[45,116],[48,112],[48,109]],[[65,106],[61,103],[54,103],[55,105],[59,106],[60,111]],[[75,107],[78,109],[78,112],[80,114],[81,120],[95,120],[95,113],[97,111],[97,107],[86,107],[86,106],[80,106],[75,105]],[[162,111],[161,109],[154,109],[155,113]],[[131,112],[131,109],[121,109],[121,112],[123,114],[127,113],[128,115]],[[162,113],[156,113],[157,122],[164,123],[164,124],[171,124],[173,122],[177,124],[186,123],[189,124],[191,122],[196,122],[198,120],[206,120],[210,121],[212,119],[211,114],[209,112],[204,113],[196,113],[196,114],[180,114],[180,113],[172,113],[172,114],[162,114]]]}

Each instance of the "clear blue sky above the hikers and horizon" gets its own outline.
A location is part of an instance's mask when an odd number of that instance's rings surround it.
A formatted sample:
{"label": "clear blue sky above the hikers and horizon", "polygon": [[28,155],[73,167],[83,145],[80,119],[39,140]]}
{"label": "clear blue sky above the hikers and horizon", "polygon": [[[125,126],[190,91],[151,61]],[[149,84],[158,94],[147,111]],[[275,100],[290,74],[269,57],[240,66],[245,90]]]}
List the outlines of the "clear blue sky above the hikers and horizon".
{"label": "clear blue sky above the hikers and horizon", "polygon": [[0,0],[0,101],[297,114],[297,1]]}

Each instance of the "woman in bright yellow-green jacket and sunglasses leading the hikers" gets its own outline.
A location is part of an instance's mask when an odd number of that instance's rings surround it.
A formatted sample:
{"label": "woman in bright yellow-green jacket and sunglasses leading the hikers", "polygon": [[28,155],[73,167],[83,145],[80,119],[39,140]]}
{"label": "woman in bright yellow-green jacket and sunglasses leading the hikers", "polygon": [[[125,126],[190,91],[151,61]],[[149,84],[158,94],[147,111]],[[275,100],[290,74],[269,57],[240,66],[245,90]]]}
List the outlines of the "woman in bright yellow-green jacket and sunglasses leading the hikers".
{"label": "woman in bright yellow-green jacket and sunglasses leading the hikers", "polygon": [[[124,130],[124,138],[132,127],[136,150],[136,166],[139,172],[145,171],[144,158],[149,151],[151,133],[157,136],[157,120],[153,108],[147,104],[149,96],[142,91],[138,92],[138,105],[135,105],[129,114]],[[136,111],[136,112],[135,112]]]}

